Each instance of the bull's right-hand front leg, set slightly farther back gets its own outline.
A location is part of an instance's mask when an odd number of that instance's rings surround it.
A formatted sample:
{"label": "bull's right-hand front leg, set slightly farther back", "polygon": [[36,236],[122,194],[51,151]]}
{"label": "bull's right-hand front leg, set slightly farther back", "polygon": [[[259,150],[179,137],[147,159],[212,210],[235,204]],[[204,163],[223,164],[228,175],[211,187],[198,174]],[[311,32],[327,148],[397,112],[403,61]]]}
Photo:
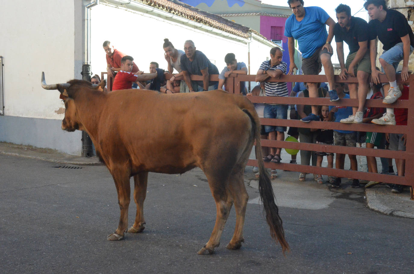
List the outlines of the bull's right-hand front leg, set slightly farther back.
{"label": "bull's right-hand front leg, set slightly farther back", "polygon": [[128,229],[128,232],[139,233],[145,228],[144,200],[147,196],[148,172],[141,172],[134,176],[134,201],[137,204],[137,215],[135,223]]}

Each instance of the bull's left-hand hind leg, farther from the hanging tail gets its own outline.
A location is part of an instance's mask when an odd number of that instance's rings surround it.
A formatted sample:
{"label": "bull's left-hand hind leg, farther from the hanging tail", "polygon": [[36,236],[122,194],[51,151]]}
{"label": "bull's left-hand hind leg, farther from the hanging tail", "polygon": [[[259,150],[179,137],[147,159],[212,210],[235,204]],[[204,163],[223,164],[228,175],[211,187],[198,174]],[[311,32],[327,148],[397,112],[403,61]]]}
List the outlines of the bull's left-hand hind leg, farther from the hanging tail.
{"label": "bull's left-hand hind leg, farther from the hanging tail", "polygon": [[226,179],[223,180],[222,176],[209,176],[207,173],[206,176],[214,201],[216,202],[217,216],[209,241],[197,252],[200,255],[212,254],[214,248],[220,245],[221,233],[223,232],[231,206],[233,205],[233,199],[226,189]]}

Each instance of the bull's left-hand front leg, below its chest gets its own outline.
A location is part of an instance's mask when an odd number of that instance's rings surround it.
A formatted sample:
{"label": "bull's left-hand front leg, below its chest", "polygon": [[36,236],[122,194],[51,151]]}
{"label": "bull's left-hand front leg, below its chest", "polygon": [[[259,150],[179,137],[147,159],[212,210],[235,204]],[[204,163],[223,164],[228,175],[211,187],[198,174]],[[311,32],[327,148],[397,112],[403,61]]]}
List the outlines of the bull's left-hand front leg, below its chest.
{"label": "bull's left-hand front leg, below its chest", "polygon": [[130,173],[123,169],[112,171],[111,173],[115,181],[116,191],[118,192],[118,204],[121,215],[118,228],[108,236],[108,240],[122,240],[128,227],[128,207],[131,195]]}

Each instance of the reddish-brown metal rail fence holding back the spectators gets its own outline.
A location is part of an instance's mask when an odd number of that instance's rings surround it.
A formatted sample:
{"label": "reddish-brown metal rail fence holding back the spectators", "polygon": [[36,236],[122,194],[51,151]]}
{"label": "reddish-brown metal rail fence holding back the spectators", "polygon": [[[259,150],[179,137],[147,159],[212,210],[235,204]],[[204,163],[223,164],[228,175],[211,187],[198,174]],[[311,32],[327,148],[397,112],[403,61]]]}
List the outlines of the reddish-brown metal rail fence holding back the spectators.
{"label": "reddish-brown metal rail fence holding back the spectators", "polygon": [[[103,75],[106,72],[102,72]],[[169,78],[167,76],[167,78]],[[193,80],[202,80],[202,76],[192,76]],[[211,80],[218,80],[218,75],[210,75]],[[327,82],[325,75],[282,75],[279,79],[269,78],[267,81],[270,82]],[[388,82],[385,75],[380,75],[380,80],[383,83]],[[230,93],[240,93],[240,82],[254,82],[255,75],[236,75],[231,74],[226,79],[226,91]],[[335,76],[335,82],[347,82],[357,83],[356,77],[349,77],[347,80],[342,80],[339,76]],[[397,82],[401,82],[401,77],[397,76]],[[113,79],[108,79],[108,89],[112,86]],[[414,75],[409,77],[409,94],[414,94]],[[109,89],[110,90],[110,89]],[[358,106],[358,99],[340,99],[339,101],[330,102],[329,98],[305,98],[305,97],[272,97],[272,96],[248,96],[248,99],[253,103],[279,103],[279,104],[301,104],[301,105],[327,105],[327,106]],[[365,106],[369,107],[380,107],[384,108],[385,105],[380,99],[367,99]],[[385,149],[368,149],[363,147],[342,147],[335,145],[324,145],[324,144],[310,144],[301,142],[286,142],[277,140],[262,139],[261,144],[263,147],[282,147],[287,149],[301,149],[308,151],[322,151],[329,153],[340,153],[340,154],[353,154],[361,156],[375,156],[385,157],[393,159],[404,159],[405,161],[405,175],[385,175],[380,173],[370,173],[362,171],[349,171],[344,169],[336,168],[325,168],[316,166],[306,166],[291,163],[272,163],[266,162],[265,167],[286,171],[298,171],[306,173],[315,173],[330,175],[335,177],[343,178],[355,178],[362,180],[379,181],[383,183],[397,183],[401,185],[409,185],[411,199],[413,200],[413,188],[414,188],[414,96],[409,96],[408,100],[397,100],[397,102],[386,105],[387,108],[407,108],[408,109],[408,120],[407,126],[403,125],[375,125],[369,124],[344,124],[337,122],[322,122],[322,121],[311,121],[310,123],[303,123],[300,120],[290,119],[270,119],[260,118],[262,125],[278,125],[286,127],[303,127],[303,128],[320,128],[330,130],[353,130],[362,132],[388,132],[388,133],[406,133],[407,144],[406,151],[393,151]],[[248,165],[257,166],[257,160],[249,159]]]}

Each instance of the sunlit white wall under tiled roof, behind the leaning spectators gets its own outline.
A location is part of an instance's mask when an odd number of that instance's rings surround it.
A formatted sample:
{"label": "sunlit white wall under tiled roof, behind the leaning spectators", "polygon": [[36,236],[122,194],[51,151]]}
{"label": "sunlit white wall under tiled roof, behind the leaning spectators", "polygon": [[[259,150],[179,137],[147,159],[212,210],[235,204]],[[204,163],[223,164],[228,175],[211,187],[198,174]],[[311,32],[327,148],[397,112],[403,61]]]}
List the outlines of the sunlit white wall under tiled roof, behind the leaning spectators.
{"label": "sunlit white wall under tiled roof, behind the leaning spectators", "polygon": [[[108,25],[107,18],[120,19],[119,25]],[[164,38],[170,39],[175,48],[183,50],[185,40],[193,40],[197,50],[202,51],[219,69],[226,66],[224,56],[232,52],[239,62],[248,63],[246,42],[219,37],[205,31],[194,29],[186,24],[165,22],[161,18],[143,16],[122,9],[98,5],[92,10],[91,66],[94,74],[106,71],[103,41],[109,40],[118,50],[135,59],[140,70],[149,71],[149,62],[158,62],[166,69]],[[257,44],[257,42],[253,42]],[[254,54],[260,62],[250,58],[253,67],[258,67],[269,55],[269,46],[257,46]],[[264,58],[264,59],[263,59]],[[263,60],[262,60],[263,59]],[[259,65],[257,63],[259,62]],[[255,73],[255,70],[253,73]]]}

